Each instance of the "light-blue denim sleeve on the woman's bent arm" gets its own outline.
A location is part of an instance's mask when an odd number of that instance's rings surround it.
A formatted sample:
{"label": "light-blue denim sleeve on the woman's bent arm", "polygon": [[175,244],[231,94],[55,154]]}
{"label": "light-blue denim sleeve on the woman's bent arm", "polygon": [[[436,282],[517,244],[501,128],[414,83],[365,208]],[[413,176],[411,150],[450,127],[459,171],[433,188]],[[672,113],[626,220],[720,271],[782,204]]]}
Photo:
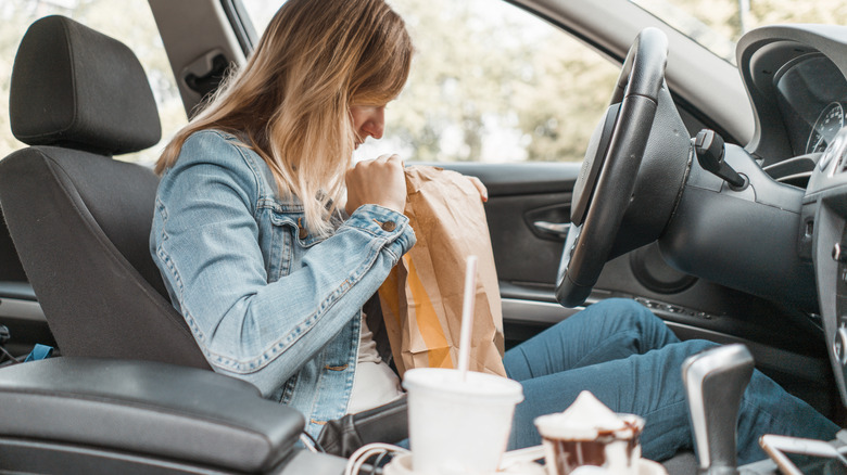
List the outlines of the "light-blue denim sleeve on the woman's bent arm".
{"label": "light-blue denim sleeve on the woman's bent arm", "polygon": [[160,184],[151,252],[208,362],[268,395],[359,314],[415,234],[365,205],[268,283],[244,153],[213,132],[189,138]]}

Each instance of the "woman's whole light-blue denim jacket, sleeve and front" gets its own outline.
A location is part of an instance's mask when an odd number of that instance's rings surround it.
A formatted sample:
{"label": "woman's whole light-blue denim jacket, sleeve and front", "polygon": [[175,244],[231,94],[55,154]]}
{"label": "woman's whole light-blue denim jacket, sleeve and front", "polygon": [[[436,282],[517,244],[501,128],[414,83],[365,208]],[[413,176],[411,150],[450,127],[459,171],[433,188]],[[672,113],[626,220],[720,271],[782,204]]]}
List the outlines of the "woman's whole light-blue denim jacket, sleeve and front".
{"label": "woman's whole light-blue denim jacket, sleeve and front", "polygon": [[346,413],[361,308],[415,233],[377,205],[329,238],[308,235],[302,219],[255,152],[200,131],[162,177],[150,252],[212,368],[300,410],[316,435]]}

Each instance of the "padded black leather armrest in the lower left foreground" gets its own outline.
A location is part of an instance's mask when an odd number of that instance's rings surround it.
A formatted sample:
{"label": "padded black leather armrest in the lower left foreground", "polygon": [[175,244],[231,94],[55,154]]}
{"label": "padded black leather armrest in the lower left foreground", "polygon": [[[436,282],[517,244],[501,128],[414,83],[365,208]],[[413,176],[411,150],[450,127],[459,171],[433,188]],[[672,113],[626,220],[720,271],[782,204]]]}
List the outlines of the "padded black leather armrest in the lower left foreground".
{"label": "padded black leather armrest in the lower left foreground", "polygon": [[[64,447],[63,454],[52,455],[59,462],[77,451],[94,459],[96,449],[215,473],[271,472],[292,453],[305,424],[298,411],[262,399],[240,380],[173,364],[94,358],[3,368],[0,407],[0,445],[10,438],[45,440]],[[14,462],[4,460],[3,467]],[[103,466],[102,461],[78,470],[65,465],[61,473],[102,473]]]}

